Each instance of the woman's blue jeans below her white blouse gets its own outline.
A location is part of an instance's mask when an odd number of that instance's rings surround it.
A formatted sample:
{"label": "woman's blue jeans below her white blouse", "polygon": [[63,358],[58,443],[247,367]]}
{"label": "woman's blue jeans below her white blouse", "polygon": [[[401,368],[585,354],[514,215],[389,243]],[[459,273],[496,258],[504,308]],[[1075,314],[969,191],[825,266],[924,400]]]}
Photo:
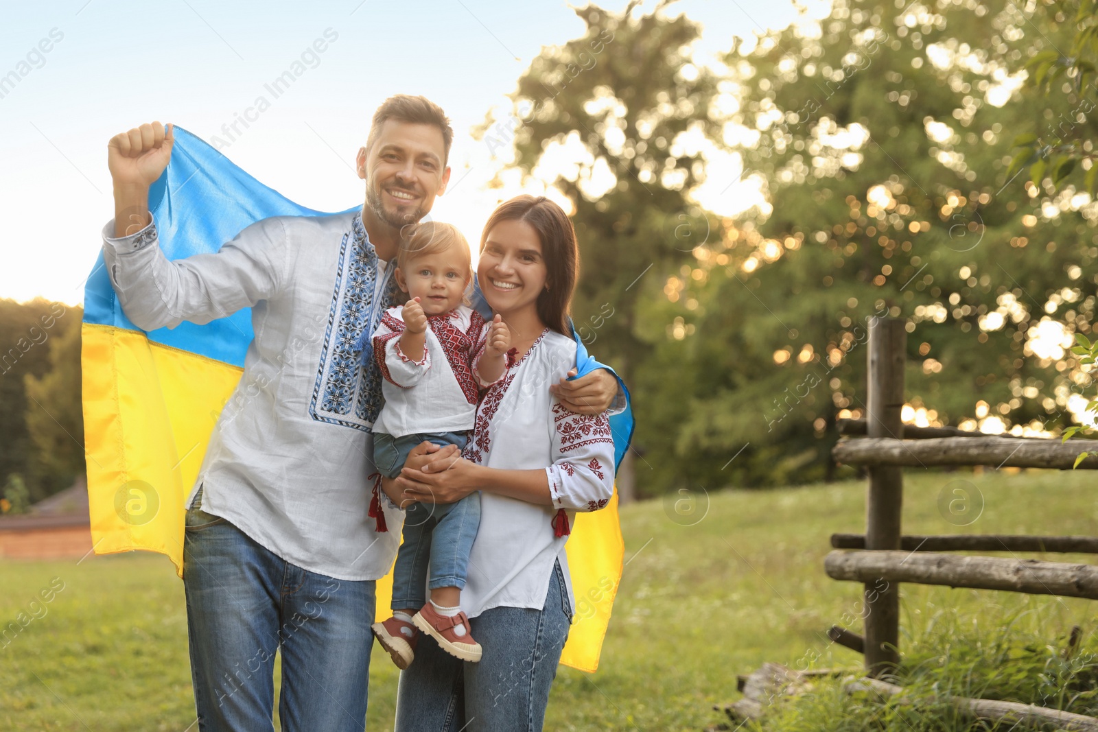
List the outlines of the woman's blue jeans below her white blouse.
{"label": "woman's blue jeans below her white blouse", "polygon": [[571,622],[558,564],[542,609],[497,607],[470,620],[484,647],[479,663],[459,661],[421,634],[415,661],[401,672],[396,732],[541,730]]}

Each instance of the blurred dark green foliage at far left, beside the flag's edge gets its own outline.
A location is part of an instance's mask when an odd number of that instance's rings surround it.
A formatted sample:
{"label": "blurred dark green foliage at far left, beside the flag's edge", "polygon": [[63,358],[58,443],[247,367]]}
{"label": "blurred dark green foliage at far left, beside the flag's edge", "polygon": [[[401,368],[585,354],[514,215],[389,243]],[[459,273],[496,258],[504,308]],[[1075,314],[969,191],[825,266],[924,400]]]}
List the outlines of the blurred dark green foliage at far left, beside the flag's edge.
{"label": "blurred dark green foliage at far left, beside the flag's edge", "polygon": [[31,503],[83,472],[82,317],[61,303],[0,300],[0,485],[25,477]]}

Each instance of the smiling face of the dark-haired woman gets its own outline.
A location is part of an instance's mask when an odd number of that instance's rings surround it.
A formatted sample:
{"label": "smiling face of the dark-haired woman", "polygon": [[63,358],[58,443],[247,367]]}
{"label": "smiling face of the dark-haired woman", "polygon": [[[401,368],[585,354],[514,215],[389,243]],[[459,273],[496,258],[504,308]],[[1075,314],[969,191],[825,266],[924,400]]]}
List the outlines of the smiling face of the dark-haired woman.
{"label": "smiling face of the dark-haired woman", "polygon": [[477,264],[481,292],[501,315],[536,308],[549,270],[541,238],[524,221],[502,221],[488,233]]}

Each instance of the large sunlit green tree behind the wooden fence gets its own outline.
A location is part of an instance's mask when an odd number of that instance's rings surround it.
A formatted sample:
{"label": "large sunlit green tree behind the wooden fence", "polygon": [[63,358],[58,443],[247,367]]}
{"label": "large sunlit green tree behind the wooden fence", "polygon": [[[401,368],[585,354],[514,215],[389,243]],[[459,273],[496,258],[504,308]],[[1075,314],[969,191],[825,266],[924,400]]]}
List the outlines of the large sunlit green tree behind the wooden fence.
{"label": "large sunlit green tree behind the wooden fence", "polygon": [[840,1],[729,54],[725,139],[772,210],[738,216],[648,306],[682,339],[666,361],[693,364],[684,480],[828,476],[836,417],[864,412],[874,314],[909,319],[907,391],[931,419],[1071,421],[1064,347],[1094,319],[1098,211],[1008,176],[1030,112],[996,106],[1007,74],[1034,36],[1064,33],[1028,23],[1013,3]]}

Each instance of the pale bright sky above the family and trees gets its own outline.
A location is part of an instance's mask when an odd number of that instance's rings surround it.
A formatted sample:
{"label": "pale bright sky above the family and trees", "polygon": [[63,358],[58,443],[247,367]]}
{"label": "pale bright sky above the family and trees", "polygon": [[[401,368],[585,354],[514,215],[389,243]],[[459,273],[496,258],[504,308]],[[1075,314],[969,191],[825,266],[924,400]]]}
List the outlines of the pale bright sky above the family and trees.
{"label": "pale bright sky above the family and trees", "polygon": [[[352,166],[373,110],[394,93],[424,94],[455,128],[450,188],[432,216],[478,241],[495,204],[523,191],[517,180],[502,191],[486,187],[506,151],[474,139],[471,128],[507,104],[544,46],[582,35],[572,7],[562,0],[5,7],[0,297],[82,302],[100,233],[113,216],[107,143],[154,120],[217,142],[234,162],[298,203],[343,211],[363,199]],[[652,7],[648,0],[640,10]],[[682,0],[671,11],[703,24],[703,58],[729,48],[735,35],[784,27],[797,15],[782,0]],[[317,40],[323,53],[313,47]],[[304,74],[276,99],[265,85],[295,61],[304,63]],[[247,127],[226,129],[260,95],[269,109],[250,112]]]}

